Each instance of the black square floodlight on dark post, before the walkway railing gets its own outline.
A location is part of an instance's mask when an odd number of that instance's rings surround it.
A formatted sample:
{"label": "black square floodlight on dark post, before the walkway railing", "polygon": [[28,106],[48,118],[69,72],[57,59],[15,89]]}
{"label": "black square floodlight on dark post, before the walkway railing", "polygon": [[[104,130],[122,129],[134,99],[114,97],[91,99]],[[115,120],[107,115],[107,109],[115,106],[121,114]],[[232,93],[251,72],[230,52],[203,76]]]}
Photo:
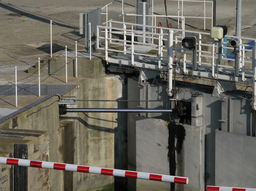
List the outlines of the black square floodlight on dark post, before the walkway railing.
{"label": "black square floodlight on dark post, before the walkway railing", "polygon": [[181,41],[181,45],[184,48],[193,50],[193,69],[197,69],[196,60],[197,60],[197,46],[196,46],[196,37],[184,37]]}

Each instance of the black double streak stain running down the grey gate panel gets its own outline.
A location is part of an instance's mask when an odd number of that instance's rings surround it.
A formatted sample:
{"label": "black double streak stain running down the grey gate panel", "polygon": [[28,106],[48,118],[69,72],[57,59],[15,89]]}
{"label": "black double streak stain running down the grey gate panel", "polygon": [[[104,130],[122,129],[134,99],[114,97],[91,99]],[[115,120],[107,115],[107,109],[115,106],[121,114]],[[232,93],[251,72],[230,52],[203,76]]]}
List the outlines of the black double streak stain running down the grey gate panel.
{"label": "black double streak stain running down the grey gate panel", "polygon": [[[181,153],[183,142],[186,136],[186,130],[184,126],[176,124],[175,122],[169,122],[168,124],[169,138],[168,138],[168,160],[169,160],[169,173],[171,176],[175,176],[176,173],[176,156],[175,151],[178,154]],[[177,144],[175,147],[175,138],[177,139]],[[175,184],[171,183],[171,191],[175,190]]]}

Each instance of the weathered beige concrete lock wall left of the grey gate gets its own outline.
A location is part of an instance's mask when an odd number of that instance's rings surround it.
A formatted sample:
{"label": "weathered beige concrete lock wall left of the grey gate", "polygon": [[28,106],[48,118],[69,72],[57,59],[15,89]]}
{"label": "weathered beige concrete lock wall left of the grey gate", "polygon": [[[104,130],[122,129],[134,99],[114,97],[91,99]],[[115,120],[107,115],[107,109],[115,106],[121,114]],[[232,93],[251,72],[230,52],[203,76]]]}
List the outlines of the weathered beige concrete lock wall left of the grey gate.
{"label": "weathered beige concrete lock wall left of the grey gate", "polygon": [[[89,100],[126,100],[126,78],[124,75],[85,78],[78,87],[63,96]],[[27,110],[2,122],[0,128],[12,128],[12,119],[17,116],[18,126],[15,129],[47,131],[47,160],[50,162],[127,169],[127,114],[68,113],[59,119],[58,99],[58,96],[54,96],[33,107],[28,106]],[[77,105],[68,107],[127,108],[127,103],[78,101]],[[9,157],[8,154],[4,152],[2,156]],[[61,170],[48,172],[48,182],[45,183],[47,189],[43,190],[122,190],[127,187],[126,178]],[[31,187],[34,188],[35,184],[35,180],[31,181]]]}

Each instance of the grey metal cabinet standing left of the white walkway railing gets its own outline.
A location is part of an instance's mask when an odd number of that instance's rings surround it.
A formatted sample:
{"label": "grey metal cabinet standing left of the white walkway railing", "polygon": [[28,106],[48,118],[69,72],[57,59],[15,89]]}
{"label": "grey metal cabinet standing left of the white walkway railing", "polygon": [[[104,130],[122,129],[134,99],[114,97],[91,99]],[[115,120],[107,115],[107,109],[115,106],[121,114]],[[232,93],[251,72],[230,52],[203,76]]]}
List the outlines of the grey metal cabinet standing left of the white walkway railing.
{"label": "grey metal cabinet standing left of the white walkway railing", "polygon": [[[90,34],[89,23],[91,23],[91,52],[96,52],[97,43],[97,25],[101,25],[101,9],[88,9],[80,13],[80,34],[85,35],[85,51],[89,52],[90,41],[88,40]],[[101,31],[99,31],[100,34]],[[99,41],[99,47],[101,43]]]}

